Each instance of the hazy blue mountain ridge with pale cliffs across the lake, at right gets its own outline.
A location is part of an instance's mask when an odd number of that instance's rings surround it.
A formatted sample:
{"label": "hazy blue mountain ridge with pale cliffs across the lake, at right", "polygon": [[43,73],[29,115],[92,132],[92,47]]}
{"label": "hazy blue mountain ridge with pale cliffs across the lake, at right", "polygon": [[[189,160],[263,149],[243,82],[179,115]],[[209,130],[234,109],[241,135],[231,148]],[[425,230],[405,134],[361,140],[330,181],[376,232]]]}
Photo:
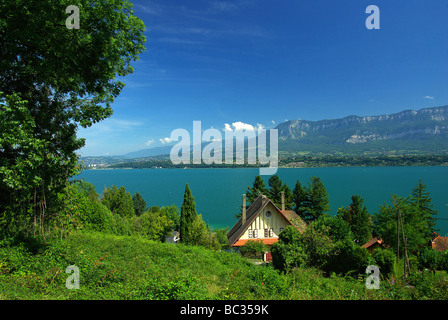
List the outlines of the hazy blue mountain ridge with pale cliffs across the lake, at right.
{"label": "hazy blue mountain ridge with pale cliffs across the lake, at right", "polygon": [[436,152],[448,150],[448,106],[379,116],[292,120],[276,129],[281,151],[359,152],[371,147],[371,151]]}

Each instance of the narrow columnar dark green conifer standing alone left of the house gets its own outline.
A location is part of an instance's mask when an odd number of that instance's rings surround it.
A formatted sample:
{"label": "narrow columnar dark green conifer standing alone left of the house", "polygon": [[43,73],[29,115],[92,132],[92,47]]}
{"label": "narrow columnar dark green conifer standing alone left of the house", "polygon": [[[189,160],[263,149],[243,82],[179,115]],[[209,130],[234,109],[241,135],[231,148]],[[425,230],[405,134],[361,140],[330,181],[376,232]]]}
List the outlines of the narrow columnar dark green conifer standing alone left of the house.
{"label": "narrow columnar dark green conifer standing alone left of the house", "polygon": [[184,202],[180,209],[180,242],[193,244],[193,228],[197,219],[196,204],[188,183],[185,185]]}

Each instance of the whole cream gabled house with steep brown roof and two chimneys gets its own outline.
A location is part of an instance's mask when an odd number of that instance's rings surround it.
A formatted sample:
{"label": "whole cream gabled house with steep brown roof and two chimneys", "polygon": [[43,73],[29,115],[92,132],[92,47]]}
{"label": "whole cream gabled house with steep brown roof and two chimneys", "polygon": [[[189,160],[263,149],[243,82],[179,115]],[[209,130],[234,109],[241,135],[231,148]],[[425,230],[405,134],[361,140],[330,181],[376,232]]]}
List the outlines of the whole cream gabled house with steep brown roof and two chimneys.
{"label": "whole cream gabled house with steep brown roof and two chimneys", "polygon": [[289,225],[294,225],[301,231],[306,223],[292,210],[285,210],[284,195],[282,208],[278,208],[264,195],[258,198],[246,210],[246,195],[243,195],[243,212],[227,234],[230,247],[241,247],[250,240],[262,241],[272,245],[278,241],[278,235]]}

